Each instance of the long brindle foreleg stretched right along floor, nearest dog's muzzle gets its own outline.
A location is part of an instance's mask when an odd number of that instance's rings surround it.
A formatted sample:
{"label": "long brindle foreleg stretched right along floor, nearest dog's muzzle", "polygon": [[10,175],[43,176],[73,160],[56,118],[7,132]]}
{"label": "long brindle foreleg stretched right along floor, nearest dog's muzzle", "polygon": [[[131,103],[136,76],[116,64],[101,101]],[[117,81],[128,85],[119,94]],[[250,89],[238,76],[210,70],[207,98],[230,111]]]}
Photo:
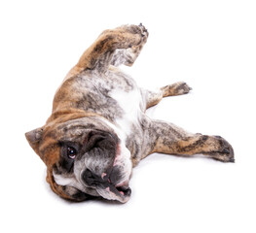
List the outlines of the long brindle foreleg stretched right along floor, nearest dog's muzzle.
{"label": "long brindle foreleg stretched right along floor, nearest dog's muzzle", "polygon": [[177,155],[201,153],[223,162],[235,161],[232,146],[222,137],[191,134],[161,120],[148,121],[145,139],[145,155],[153,152]]}

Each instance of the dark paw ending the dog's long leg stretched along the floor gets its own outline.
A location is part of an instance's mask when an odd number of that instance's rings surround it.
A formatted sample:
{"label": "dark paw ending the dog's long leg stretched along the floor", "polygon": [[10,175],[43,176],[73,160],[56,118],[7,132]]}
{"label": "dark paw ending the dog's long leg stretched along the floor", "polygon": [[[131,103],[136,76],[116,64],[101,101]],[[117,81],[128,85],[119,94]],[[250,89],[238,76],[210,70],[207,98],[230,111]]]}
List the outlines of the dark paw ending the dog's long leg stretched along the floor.
{"label": "dark paw ending the dog's long leg stretched along the floor", "polygon": [[222,137],[213,136],[217,150],[207,152],[205,154],[222,162],[235,162],[234,150],[232,146]]}

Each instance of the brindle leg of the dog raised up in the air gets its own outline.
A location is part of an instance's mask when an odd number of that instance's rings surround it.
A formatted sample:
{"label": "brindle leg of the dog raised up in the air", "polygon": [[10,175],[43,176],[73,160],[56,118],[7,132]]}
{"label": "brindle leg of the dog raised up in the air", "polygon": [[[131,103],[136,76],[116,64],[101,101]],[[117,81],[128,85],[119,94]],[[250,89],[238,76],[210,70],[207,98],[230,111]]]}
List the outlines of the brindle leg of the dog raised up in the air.
{"label": "brindle leg of the dog raised up in the air", "polygon": [[110,65],[131,66],[147,41],[148,31],[142,25],[123,25],[103,31],[81,56],[77,68],[104,73]]}

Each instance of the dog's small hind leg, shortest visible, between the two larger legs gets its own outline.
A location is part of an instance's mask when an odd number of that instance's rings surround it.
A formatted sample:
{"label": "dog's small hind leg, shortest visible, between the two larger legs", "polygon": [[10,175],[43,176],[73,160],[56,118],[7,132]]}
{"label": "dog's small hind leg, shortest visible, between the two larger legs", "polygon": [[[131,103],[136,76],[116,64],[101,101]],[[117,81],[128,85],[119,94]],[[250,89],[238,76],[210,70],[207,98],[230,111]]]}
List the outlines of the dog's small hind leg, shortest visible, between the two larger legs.
{"label": "dog's small hind leg, shortest visible, between the two larger legs", "polygon": [[146,100],[146,109],[157,105],[164,97],[187,94],[192,88],[184,82],[173,83],[165,85],[156,90],[142,90]]}

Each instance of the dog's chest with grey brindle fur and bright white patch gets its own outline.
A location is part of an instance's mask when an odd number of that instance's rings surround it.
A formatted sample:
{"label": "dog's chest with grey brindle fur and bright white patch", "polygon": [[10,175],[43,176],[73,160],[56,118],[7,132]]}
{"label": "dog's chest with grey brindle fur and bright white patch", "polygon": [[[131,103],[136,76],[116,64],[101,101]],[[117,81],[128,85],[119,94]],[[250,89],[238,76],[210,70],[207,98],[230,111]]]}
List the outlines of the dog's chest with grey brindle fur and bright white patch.
{"label": "dog's chest with grey brindle fur and bright white patch", "polygon": [[86,73],[70,87],[76,97],[74,106],[108,119],[127,136],[140,130],[145,103],[135,81],[120,70],[105,75]]}

